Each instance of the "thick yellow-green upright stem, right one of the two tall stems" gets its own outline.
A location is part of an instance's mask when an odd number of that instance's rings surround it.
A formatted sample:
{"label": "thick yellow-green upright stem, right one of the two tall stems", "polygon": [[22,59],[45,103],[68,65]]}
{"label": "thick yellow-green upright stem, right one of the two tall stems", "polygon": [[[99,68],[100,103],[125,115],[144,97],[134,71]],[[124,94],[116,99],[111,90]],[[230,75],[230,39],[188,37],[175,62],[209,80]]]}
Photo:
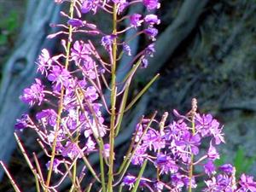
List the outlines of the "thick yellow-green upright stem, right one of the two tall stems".
{"label": "thick yellow-green upright stem, right one of the two tall stems", "polygon": [[[113,4],[113,35],[117,32],[117,5]],[[113,192],[113,145],[114,145],[114,122],[115,122],[115,102],[116,102],[116,59],[117,59],[117,41],[113,39],[113,63],[111,67],[111,119],[109,133],[109,169],[108,169],[108,192]]]}

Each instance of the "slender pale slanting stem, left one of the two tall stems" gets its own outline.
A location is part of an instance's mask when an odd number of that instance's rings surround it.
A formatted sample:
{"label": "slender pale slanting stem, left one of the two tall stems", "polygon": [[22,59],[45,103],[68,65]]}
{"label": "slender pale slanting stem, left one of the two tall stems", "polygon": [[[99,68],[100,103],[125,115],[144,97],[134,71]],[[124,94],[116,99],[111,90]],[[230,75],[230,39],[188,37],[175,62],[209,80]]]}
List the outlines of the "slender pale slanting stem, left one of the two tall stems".
{"label": "slender pale slanting stem, left one of the two tall stems", "polygon": [[[73,18],[73,8],[75,5],[75,0],[71,1],[70,4],[70,9],[69,9],[69,13],[70,13],[70,18]],[[73,28],[72,26],[68,27],[68,41],[67,41],[67,52],[66,52],[66,61],[65,61],[65,68],[67,69],[68,67],[68,63],[69,63],[69,55],[70,55],[70,47],[71,47],[71,39],[72,39],[72,33],[73,33]],[[61,124],[61,113],[63,110],[63,97],[64,97],[64,87],[63,85],[61,86],[61,98],[60,98],[60,104],[59,104],[59,108],[58,108],[58,116],[57,116],[57,121],[56,121],[56,130],[55,130],[55,138],[52,144],[52,152],[51,152],[51,158],[50,158],[50,163],[49,163],[49,172],[47,174],[47,180],[46,180],[46,187],[49,187],[49,181],[51,178],[51,174],[53,171],[53,163],[55,160],[55,149],[56,149],[56,143],[57,143],[57,136],[58,136],[58,131],[60,129],[60,124]],[[49,191],[48,189],[44,190],[45,192]]]}

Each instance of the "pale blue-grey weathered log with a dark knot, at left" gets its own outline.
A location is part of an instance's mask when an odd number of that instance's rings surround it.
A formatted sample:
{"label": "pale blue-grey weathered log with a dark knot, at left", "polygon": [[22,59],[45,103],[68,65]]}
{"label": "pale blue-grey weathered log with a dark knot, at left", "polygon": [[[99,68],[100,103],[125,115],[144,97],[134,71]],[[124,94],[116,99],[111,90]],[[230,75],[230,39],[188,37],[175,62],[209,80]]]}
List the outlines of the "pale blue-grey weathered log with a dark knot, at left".
{"label": "pale blue-grey weathered log with a dark knot, at left", "polygon": [[[59,8],[52,0],[29,0],[24,26],[20,32],[15,51],[3,69],[0,87],[0,160],[9,161],[15,148],[13,137],[15,119],[27,110],[19,100],[22,90],[36,76],[35,61],[43,47],[53,42],[46,39],[49,23],[58,18]],[[0,170],[0,179],[3,176]]]}

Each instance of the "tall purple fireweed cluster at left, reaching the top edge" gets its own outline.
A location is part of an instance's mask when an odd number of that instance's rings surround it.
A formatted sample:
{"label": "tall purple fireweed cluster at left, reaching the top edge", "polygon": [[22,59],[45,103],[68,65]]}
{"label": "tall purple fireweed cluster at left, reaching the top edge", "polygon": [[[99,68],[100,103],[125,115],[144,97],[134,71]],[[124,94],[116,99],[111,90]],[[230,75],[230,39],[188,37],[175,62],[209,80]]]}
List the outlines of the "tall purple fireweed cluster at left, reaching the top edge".
{"label": "tall purple fireweed cluster at left, reaching the top edge", "polygon": [[[32,115],[23,114],[17,119],[15,129],[22,131],[31,128],[38,133],[38,144],[44,148],[45,154],[49,157],[46,164],[49,170],[48,180],[42,185],[43,188],[49,187],[51,172],[68,177],[67,173],[73,169],[73,166],[82,164],[90,170],[96,182],[101,180],[102,190],[105,192],[104,169],[108,168],[111,161],[112,167],[109,166],[109,170],[113,169],[114,152],[111,139],[121,118],[120,116],[116,117],[117,120],[112,118],[108,124],[102,108],[111,113],[111,116],[115,113],[113,108],[119,110],[121,114],[124,113],[125,108],[122,106],[125,106],[125,102],[117,105],[113,102],[113,97],[107,98],[103,92],[109,90],[116,99],[119,97],[121,101],[125,101],[124,90],[129,89],[135,74],[134,69],[131,68],[131,73],[123,83],[112,81],[116,75],[113,70],[118,64],[118,56],[122,56],[123,52],[126,55],[135,55],[131,58],[131,64],[137,67],[148,66],[148,57],[154,55],[154,44],[146,45],[137,55],[131,54],[129,44],[133,38],[141,35],[149,38],[149,42],[155,40],[158,34],[155,26],[160,24],[160,20],[157,15],[150,12],[159,9],[160,3],[158,0],[55,0],[55,3],[70,4],[68,15],[61,11],[61,16],[67,20],[66,23],[51,24],[52,27],[58,27],[59,31],[48,36],[48,38],[66,37],[61,39],[64,51],[52,55],[48,49],[42,49],[36,62],[37,72],[47,83],[43,84],[40,79],[35,79],[35,83],[26,88],[20,96],[20,100],[31,107],[40,105],[40,111]],[[148,15],[143,16],[139,13],[124,15],[126,9],[138,3],[144,5]],[[104,29],[90,23],[90,20],[84,20],[84,15],[96,15],[100,11],[115,18],[113,32],[104,32]],[[130,24],[125,28],[122,28],[123,24],[120,27],[119,23],[125,20],[130,21]],[[128,30],[135,30],[137,33],[135,36],[125,38],[128,40],[124,41],[124,33]],[[77,33],[102,39],[100,44],[106,50],[104,58],[108,59],[102,59],[103,56],[98,53],[94,45],[99,44],[98,42],[77,39],[75,35]],[[111,79],[108,81],[109,76]],[[120,91],[116,92],[116,90]],[[108,106],[108,100],[111,100],[111,108]],[[155,148],[153,144],[150,145]],[[87,160],[88,155],[92,153],[98,154],[101,162],[105,163],[101,165],[101,179],[90,168],[90,162]],[[66,171],[65,167],[68,167]],[[41,171],[37,170],[37,172]],[[113,175],[109,173],[109,177]],[[39,178],[39,180],[44,179]],[[109,178],[108,182],[112,180]]]}

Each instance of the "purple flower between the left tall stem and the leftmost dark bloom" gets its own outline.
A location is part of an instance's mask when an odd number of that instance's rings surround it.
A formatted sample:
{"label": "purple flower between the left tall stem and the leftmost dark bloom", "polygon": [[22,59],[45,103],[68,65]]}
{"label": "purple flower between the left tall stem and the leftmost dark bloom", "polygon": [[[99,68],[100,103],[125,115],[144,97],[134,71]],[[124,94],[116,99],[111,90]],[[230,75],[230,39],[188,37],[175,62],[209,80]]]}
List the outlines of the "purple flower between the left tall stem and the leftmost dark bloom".
{"label": "purple flower between the left tall stem and the leftmost dark bloom", "polygon": [[44,109],[43,111],[36,114],[36,118],[42,121],[44,125],[49,124],[51,126],[55,126],[57,114],[53,109]]}

